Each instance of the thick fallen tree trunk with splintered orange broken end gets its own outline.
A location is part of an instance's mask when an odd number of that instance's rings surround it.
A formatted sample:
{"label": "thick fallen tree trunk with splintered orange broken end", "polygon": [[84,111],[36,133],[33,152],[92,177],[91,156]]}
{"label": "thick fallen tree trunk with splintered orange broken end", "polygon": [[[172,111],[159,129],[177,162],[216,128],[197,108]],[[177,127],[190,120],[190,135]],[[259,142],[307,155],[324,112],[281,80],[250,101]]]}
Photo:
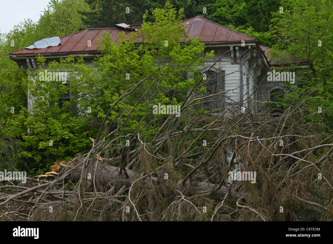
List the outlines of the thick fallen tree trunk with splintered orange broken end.
{"label": "thick fallen tree trunk with splintered orange broken end", "polygon": [[[79,181],[86,180],[88,187],[92,187],[95,183],[95,186],[105,187],[109,185],[110,187],[120,189],[124,186],[131,187],[134,181],[144,176],[142,173],[136,173],[128,168],[126,168],[127,174],[124,172],[120,173],[120,167],[109,165],[104,161],[95,162],[94,164],[88,164],[88,166],[86,166],[86,163],[83,163],[84,159],[84,157],[78,157],[72,161],[72,163],[68,163],[66,161],[57,161],[53,166],[51,166],[51,172],[36,176],[36,178],[56,179],[74,167],[72,173],[65,178],[65,181],[72,181],[77,183]],[[126,175],[128,177],[126,177]],[[164,179],[162,180],[164,182],[167,181]],[[177,195],[179,195],[178,193],[180,192],[185,196],[193,196],[209,193],[214,188],[218,188],[218,186],[208,182],[186,181],[182,185],[181,181],[179,181],[177,185],[172,186],[171,184],[160,184],[162,180],[158,177],[147,176],[140,180],[140,183],[138,184],[140,184],[142,187],[158,187],[159,192],[164,196],[170,196],[174,194],[174,192],[177,192]],[[227,193],[238,197],[245,196],[243,192],[236,192],[235,188],[231,187],[229,189],[229,187],[221,186],[216,192],[214,192],[214,194],[212,194],[214,196],[211,197],[222,200]]]}

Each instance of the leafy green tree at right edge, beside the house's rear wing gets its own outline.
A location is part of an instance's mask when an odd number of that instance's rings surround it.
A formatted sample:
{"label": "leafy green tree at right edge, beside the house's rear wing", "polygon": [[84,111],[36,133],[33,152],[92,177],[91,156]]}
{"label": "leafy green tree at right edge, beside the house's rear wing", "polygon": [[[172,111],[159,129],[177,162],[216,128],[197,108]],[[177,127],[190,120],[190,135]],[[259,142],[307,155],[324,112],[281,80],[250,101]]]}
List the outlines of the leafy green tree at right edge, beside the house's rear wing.
{"label": "leafy green tree at right edge, beside the house's rear wing", "polygon": [[[298,58],[308,68],[290,65],[300,82],[288,96],[305,102],[304,110],[310,121],[325,122],[333,128],[333,14],[331,1],[283,1],[283,13],[275,13],[274,28],[279,41],[272,57],[290,63],[290,56]],[[289,99],[288,98],[288,99]],[[309,98],[311,102],[307,102]],[[314,102],[315,101],[315,102]]]}

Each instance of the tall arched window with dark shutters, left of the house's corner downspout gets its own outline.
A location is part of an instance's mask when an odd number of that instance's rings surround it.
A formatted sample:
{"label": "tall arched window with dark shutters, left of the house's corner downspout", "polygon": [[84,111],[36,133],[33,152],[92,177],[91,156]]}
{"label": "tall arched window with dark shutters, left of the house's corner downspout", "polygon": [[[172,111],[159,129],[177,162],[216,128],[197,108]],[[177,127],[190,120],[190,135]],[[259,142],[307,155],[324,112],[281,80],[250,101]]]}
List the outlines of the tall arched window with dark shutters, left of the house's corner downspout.
{"label": "tall arched window with dark shutters, left of the house's corner downspout", "polygon": [[[220,72],[215,71],[208,71],[207,73],[207,80],[205,82],[206,91],[208,94],[205,96],[217,94],[224,91],[224,75],[225,71],[222,70]],[[224,108],[224,94],[219,94],[217,96],[212,96],[206,98],[204,102],[204,107],[207,110],[211,109],[220,109]]]}

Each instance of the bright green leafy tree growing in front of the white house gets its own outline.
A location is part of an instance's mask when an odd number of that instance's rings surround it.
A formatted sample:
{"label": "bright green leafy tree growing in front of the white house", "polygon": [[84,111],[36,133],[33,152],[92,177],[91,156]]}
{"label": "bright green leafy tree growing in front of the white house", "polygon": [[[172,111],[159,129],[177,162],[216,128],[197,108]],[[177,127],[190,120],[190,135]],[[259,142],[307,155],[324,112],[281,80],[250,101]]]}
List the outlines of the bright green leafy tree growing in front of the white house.
{"label": "bright green leafy tree growing in front of the white house", "polygon": [[[31,172],[42,172],[54,161],[82,154],[91,146],[89,137],[106,136],[119,123],[124,128],[137,126],[135,130],[143,123],[150,124],[151,133],[159,129],[158,121],[165,120],[167,115],[152,115],[152,106],[180,105],[184,92],[202,77],[195,67],[202,66],[204,59],[213,55],[202,55],[204,44],[200,38],[188,38],[181,17],[182,10],[177,13],[166,3],[165,8],[153,11],[154,24],[146,21],[148,15],[144,16],[142,30],[133,33],[130,40],[121,32],[114,43],[105,33],[101,41],[104,55],[96,57],[92,65],[86,65],[83,58],[68,57],[50,62],[43,69],[45,58],[37,59],[38,72],[29,71],[24,81],[34,101],[30,112],[22,108],[5,121],[9,129],[15,128],[22,137],[20,146],[24,150],[20,157]],[[139,38],[144,44],[135,44]],[[46,79],[45,71],[68,72],[68,83]],[[194,75],[183,79],[186,72]],[[149,78],[142,80],[143,77]],[[136,90],[121,98],[124,91],[135,85]],[[147,90],[150,94],[143,99]],[[110,106],[119,99],[122,102],[108,114]],[[132,119],[118,120],[126,115]],[[104,120],[109,129],[101,134],[98,132]],[[118,133],[126,135],[135,130],[123,129]],[[12,136],[13,132],[8,130],[8,134]]]}

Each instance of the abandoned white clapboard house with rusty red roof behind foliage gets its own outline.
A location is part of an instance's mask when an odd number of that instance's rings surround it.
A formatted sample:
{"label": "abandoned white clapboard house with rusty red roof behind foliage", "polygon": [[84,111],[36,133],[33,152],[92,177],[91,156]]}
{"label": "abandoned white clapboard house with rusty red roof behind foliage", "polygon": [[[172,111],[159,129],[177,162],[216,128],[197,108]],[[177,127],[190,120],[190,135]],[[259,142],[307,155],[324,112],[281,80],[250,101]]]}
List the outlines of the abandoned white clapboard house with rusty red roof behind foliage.
{"label": "abandoned white clapboard house with rusty red roof behind foliage", "polygon": [[[292,75],[274,79],[275,70],[285,69],[288,65],[281,60],[270,59],[268,53],[270,48],[260,45],[258,40],[200,16],[184,20],[182,23],[187,27],[188,36],[202,36],[201,41],[205,43],[205,51],[214,50],[215,57],[208,59],[204,68],[200,67],[198,71],[206,73],[207,77],[214,77],[212,82],[216,84],[213,84],[212,87],[217,87],[217,89],[207,89],[209,93],[216,94],[216,90],[221,89],[228,91],[223,96],[223,101],[215,104],[218,109],[239,101],[244,101],[244,106],[247,101],[260,101],[253,106],[253,113],[256,113],[262,108],[265,101],[275,99],[271,94],[285,93],[283,81],[287,79],[287,81],[290,80],[290,84],[297,85],[297,79]],[[90,64],[96,55],[101,54],[95,39],[102,40],[103,32],[110,33],[113,42],[116,42],[120,32],[125,32],[126,37],[129,38],[131,32],[138,31],[140,28],[141,25],[127,24],[88,27],[87,30],[69,34],[60,39],[48,38],[37,41],[29,47],[11,52],[8,56],[25,71],[38,68],[36,62],[38,54],[46,58],[45,67],[48,66],[48,62],[66,58],[68,55],[83,56],[85,62]],[[91,45],[87,45],[89,41],[91,41]],[[223,58],[210,68],[223,53],[225,53]],[[295,57],[291,58],[291,63],[297,63],[298,68],[306,66],[305,62],[299,62]],[[267,74],[270,71],[274,72],[273,79],[270,77],[272,74]],[[71,99],[70,94],[61,99]],[[32,106],[33,99],[29,97],[28,93],[29,111]]]}

